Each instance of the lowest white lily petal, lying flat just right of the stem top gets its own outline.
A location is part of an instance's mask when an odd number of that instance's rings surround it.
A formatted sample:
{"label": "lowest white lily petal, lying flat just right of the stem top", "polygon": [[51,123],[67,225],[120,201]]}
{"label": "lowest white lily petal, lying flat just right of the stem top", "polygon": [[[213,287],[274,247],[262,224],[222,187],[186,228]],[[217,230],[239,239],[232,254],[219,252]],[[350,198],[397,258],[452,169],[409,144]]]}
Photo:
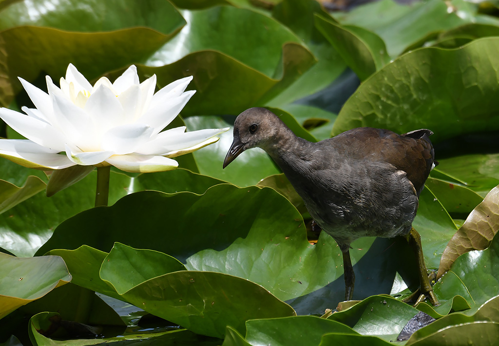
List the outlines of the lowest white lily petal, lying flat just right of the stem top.
{"label": "lowest white lily petal, lying flat just right of the stem top", "polygon": [[177,161],[162,156],[114,155],[106,162],[122,171],[131,173],[151,173],[170,171],[179,166]]}

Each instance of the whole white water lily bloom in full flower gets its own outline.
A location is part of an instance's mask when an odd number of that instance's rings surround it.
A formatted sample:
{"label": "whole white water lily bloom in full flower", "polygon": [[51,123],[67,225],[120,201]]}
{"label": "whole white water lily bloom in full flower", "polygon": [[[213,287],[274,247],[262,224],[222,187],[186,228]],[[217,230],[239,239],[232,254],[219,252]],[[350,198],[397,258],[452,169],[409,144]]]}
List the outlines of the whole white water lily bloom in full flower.
{"label": "whole white water lily bloom in full flower", "polygon": [[218,141],[225,129],[162,131],[195,91],[192,77],[154,93],[156,75],[139,82],[130,66],[114,83],[102,77],[92,86],[70,64],[58,88],[46,76],[48,94],[19,78],[36,108],[25,114],[0,108],[0,118],[26,140],[0,140],[0,157],[25,167],[60,170],[74,165],[115,166],[126,172],[160,172],[178,167],[173,157]]}

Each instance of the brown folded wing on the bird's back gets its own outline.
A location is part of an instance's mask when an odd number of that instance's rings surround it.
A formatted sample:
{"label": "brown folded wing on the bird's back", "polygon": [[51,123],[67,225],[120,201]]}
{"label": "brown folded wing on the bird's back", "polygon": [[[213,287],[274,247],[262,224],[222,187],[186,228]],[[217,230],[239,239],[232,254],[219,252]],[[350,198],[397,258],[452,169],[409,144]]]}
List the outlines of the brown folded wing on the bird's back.
{"label": "brown folded wing on the bird's back", "polygon": [[430,130],[416,130],[398,135],[389,130],[357,128],[344,132],[330,140],[340,155],[372,162],[386,162],[407,173],[417,194],[434,164],[434,149]]}

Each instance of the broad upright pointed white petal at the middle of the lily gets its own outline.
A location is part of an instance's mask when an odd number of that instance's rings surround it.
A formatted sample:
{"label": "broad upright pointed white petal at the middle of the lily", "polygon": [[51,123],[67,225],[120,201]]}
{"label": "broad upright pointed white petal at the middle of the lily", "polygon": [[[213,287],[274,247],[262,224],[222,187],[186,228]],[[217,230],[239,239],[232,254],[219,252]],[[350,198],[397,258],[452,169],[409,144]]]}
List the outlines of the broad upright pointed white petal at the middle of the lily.
{"label": "broad upright pointed white petal at the middle of the lily", "polygon": [[84,110],[101,134],[123,124],[123,107],[113,92],[104,85],[90,95]]}

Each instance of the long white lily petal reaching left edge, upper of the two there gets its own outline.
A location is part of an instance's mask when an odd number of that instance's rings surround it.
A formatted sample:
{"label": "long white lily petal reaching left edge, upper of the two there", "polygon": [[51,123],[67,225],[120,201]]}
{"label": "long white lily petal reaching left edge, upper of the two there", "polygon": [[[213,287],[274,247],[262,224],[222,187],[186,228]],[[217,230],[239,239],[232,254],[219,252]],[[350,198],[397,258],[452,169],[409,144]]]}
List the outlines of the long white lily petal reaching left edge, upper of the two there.
{"label": "long white lily petal reaching left edge, upper of the two there", "polygon": [[14,131],[40,146],[60,152],[64,150],[64,137],[43,120],[7,108],[0,108],[0,118]]}

